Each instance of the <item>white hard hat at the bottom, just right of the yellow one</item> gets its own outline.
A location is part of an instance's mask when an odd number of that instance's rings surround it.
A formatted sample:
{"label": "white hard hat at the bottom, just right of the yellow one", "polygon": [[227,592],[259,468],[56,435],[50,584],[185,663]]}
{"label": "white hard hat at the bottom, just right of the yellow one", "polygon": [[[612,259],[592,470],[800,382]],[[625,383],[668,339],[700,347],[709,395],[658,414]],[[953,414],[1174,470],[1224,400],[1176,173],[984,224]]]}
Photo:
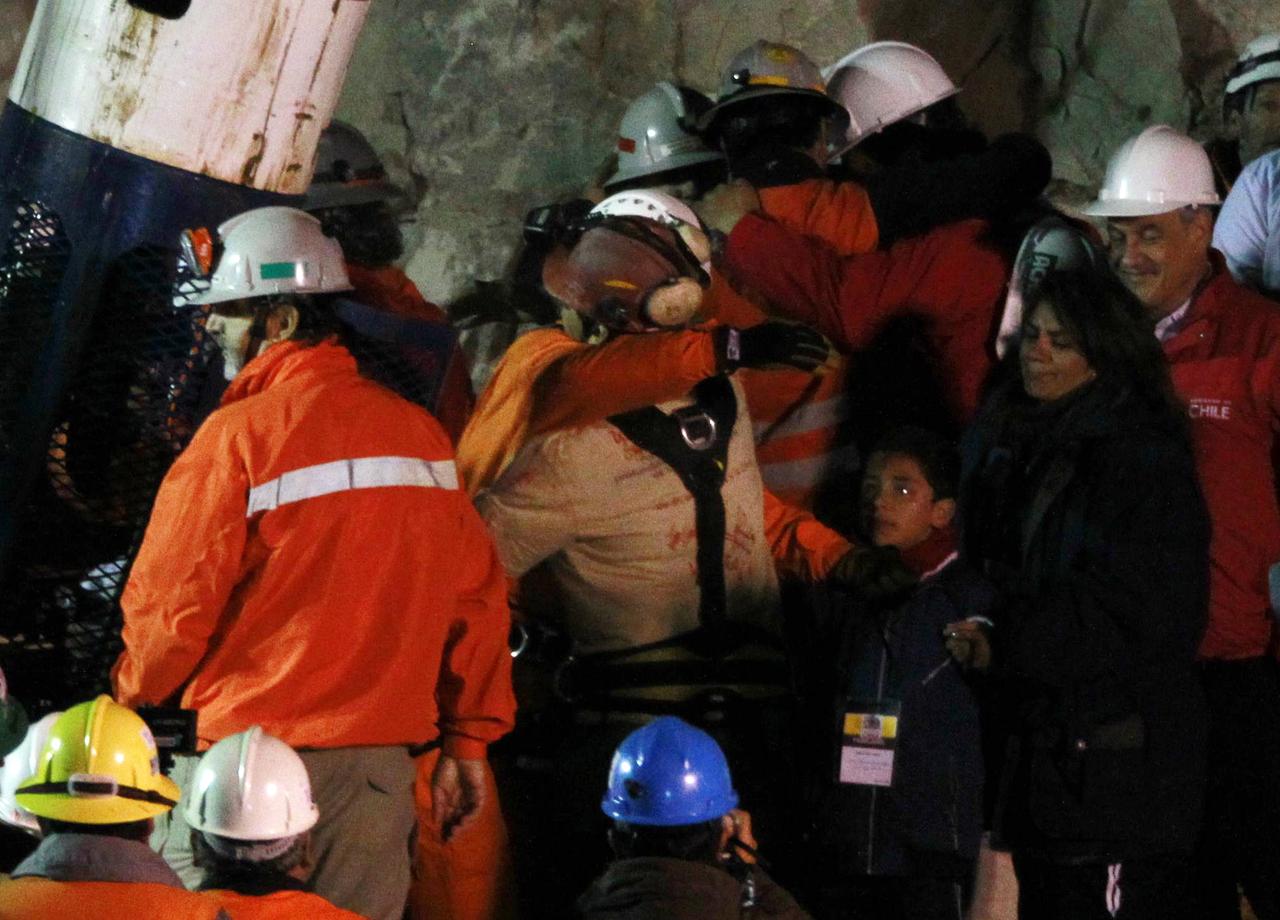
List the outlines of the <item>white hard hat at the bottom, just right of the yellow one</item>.
{"label": "white hard hat at the bottom, just right of the yellow one", "polygon": [[248,842],[297,837],[320,813],[302,757],[253,726],[205,751],[183,816],[196,830]]}

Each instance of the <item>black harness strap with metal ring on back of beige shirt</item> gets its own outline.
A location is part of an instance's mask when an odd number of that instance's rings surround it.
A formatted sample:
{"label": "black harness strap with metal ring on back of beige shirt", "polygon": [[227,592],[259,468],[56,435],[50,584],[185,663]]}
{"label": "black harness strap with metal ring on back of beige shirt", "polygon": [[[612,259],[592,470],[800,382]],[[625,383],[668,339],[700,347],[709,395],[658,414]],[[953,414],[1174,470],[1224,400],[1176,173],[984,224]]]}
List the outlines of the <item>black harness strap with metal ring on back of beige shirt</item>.
{"label": "black harness strap with metal ring on back of beige shirt", "polygon": [[669,466],[694,496],[698,535],[698,621],[712,635],[723,632],[724,470],[737,417],[737,398],[726,377],[708,377],[694,388],[694,406],[667,415],[649,406],[612,416],[609,422],[643,450]]}

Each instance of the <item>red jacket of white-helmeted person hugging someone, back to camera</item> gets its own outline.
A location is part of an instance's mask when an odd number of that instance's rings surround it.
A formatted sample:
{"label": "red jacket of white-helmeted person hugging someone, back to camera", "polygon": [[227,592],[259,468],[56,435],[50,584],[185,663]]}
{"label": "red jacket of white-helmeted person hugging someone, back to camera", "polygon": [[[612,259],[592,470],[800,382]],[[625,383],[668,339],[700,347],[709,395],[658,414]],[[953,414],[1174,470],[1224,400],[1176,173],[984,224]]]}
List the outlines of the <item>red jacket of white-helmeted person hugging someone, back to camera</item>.
{"label": "red jacket of white-helmeted person hugging someone, back to camera", "polygon": [[888,250],[841,256],[820,239],[749,214],[728,235],[724,269],[836,345],[856,352],[895,317],[914,316],[956,422],[973,418],[993,362],[992,337],[1011,266],[966,220]]}

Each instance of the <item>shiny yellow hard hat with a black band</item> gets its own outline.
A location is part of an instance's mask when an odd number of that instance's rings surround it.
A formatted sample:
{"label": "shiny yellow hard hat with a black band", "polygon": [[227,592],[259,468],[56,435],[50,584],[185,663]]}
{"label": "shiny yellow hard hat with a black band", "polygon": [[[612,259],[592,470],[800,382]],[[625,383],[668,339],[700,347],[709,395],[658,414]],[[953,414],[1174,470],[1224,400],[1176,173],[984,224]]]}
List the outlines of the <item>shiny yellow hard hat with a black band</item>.
{"label": "shiny yellow hard hat with a black band", "polygon": [[14,797],[40,818],[123,824],[161,815],[178,804],[177,784],[160,773],[151,729],[106,695],[63,713],[38,763]]}

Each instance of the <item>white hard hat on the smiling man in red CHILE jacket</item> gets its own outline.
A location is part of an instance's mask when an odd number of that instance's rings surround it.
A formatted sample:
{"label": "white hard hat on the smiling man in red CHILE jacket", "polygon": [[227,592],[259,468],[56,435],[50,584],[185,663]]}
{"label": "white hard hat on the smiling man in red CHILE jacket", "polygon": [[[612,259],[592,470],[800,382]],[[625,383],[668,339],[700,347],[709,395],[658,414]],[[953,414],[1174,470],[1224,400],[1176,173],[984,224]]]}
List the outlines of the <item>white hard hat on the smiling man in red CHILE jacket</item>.
{"label": "white hard hat on the smiling man in red CHILE jacket", "polygon": [[1140,218],[1192,205],[1219,205],[1208,155],[1167,124],[1125,141],[1107,163],[1098,200],[1084,209],[1094,218]]}

